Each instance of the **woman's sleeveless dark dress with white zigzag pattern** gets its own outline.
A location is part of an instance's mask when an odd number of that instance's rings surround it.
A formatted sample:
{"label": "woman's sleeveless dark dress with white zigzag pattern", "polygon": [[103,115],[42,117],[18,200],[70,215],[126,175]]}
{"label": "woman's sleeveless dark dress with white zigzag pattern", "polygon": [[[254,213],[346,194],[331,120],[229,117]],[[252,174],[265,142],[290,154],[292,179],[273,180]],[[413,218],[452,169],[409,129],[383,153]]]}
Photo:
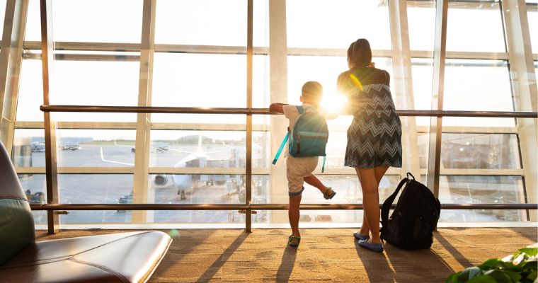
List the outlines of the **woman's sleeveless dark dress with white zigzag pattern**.
{"label": "woman's sleeveless dark dress with white zigzag pattern", "polygon": [[[357,74],[357,70],[350,71],[338,78],[340,90],[345,89],[350,104],[355,105],[353,122],[348,129],[345,166],[401,167],[401,121],[392,101],[389,74],[379,69],[365,71],[370,72],[367,76]],[[341,81],[353,73],[352,82]],[[357,77],[370,84],[357,83]]]}

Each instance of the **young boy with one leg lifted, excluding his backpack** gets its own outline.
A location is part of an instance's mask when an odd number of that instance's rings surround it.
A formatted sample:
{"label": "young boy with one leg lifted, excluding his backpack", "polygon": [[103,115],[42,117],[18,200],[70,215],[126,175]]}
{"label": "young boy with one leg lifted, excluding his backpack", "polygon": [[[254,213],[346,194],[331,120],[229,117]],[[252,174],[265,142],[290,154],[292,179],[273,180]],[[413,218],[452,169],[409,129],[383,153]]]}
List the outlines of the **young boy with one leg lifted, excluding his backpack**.
{"label": "young boy with one leg lifted, excluding his backpack", "polygon": [[[319,108],[322,96],[323,88],[320,83],[316,81],[304,83],[300,97],[302,107],[306,112],[316,111]],[[299,117],[299,110],[297,110],[295,105],[273,103],[269,109],[273,112],[283,113],[290,120],[290,132],[293,132],[293,125],[297,117]],[[303,182],[317,187],[324,194],[326,200],[332,199],[336,195],[336,192],[331,187],[326,187],[316,176],[312,175],[312,172],[318,166],[318,156],[293,157],[288,154],[287,148],[285,153],[288,195],[290,195],[288,217],[290,219],[290,226],[292,227],[292,235],[288,238],[287,244],[297,247],[301,241],[301,233],[299,233],[299,204],[301,204],[301,194],[304,190]]]}

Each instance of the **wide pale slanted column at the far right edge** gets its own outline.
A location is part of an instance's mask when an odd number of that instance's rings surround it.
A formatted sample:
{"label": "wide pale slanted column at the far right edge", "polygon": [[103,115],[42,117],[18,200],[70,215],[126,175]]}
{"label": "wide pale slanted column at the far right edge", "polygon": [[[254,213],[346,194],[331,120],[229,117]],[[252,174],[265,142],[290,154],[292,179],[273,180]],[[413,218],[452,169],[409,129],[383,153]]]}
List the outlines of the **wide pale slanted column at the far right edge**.
{"label": "wide pale slanted column at the far right edge", "polygon": [[[532,62],[525,0],[505,0],[502,4],[515,111],[536,112],[538,91],[534,62]],[[537,203],[537,120],[517,119],[517,134],[519,135],[521,163],[525,174],[526,202]],[[536,210],[533,210],[530,216],[531,221],[537,221]]]}

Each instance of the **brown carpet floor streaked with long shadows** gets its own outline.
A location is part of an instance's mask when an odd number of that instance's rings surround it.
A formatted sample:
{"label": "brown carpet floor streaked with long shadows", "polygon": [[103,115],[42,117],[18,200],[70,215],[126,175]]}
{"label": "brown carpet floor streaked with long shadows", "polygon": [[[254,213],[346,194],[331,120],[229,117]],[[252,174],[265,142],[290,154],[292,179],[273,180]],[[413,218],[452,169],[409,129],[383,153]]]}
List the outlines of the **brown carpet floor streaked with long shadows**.
{"label": "brown carpet floor streaked with long shadows", "polygon": [[[444,282],[465,267],[503,258],[538,241],[531,228],[440,228],[429,250],[390,244],[373,253],[353,241],[353,229],[302,229],[299,248],[289,229],[162,230],[173,236],[149,282]],[[36,231],[38,241],[122,232]]]}

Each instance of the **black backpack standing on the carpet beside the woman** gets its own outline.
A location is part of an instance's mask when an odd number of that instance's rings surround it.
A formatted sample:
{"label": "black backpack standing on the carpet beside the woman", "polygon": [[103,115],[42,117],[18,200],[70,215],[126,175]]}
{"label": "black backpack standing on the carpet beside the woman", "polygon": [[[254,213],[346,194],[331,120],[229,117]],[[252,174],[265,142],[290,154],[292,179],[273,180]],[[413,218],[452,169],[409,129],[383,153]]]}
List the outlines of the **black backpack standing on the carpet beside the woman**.
{"label": "black backpack standing on the carpet beside the woman", "polygon": [[[430,248],[433,231],[437,227],[441,204],[425,185],[409,178],[401,180],[394,193],[385,200],[381,209],[381,238],[404,249]],[[389,219],[389,209],[403,185],[398,203]]]}

